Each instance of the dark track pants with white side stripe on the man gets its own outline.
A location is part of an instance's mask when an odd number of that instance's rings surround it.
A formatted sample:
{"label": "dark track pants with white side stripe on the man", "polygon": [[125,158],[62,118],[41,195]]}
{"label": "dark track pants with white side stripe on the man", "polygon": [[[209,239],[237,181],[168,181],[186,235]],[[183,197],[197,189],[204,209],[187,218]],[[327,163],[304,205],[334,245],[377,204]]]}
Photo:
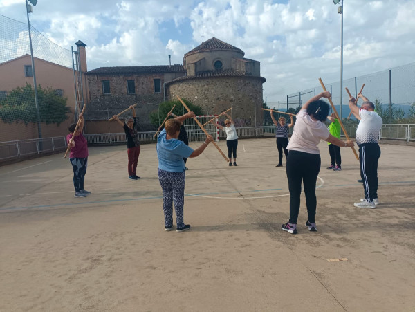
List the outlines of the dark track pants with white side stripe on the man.
{"label": "dark track pants with white side stripe on the man", "polygon": [[369,202],[378,198],[378,161],[380,147],[378,143],[359,145],[360,176],[365,189],[365,199]]}

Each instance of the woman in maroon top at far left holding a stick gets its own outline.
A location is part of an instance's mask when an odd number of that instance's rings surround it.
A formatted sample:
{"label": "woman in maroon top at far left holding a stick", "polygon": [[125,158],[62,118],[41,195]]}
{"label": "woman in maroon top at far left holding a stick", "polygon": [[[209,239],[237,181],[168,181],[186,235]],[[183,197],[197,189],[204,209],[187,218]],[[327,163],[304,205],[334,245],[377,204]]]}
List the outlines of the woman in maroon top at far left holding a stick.
{"label": "woman in maroon top at far left holding a stick", "polygon": [[69,126],[68,130],[71,132],[66,136],[66,141],[69,144],[71,138],[71,154],[69,154],[69,161],[73,167],[73,186],[75,187],[75,197],[86,197],[91,192],[84,189],[84,181],[86,174],[86,166],[88,164],[88,144],[86,138],[82,135],[84,128],[84,116],[80,115],[80,125],[75,133],[76,124]]}

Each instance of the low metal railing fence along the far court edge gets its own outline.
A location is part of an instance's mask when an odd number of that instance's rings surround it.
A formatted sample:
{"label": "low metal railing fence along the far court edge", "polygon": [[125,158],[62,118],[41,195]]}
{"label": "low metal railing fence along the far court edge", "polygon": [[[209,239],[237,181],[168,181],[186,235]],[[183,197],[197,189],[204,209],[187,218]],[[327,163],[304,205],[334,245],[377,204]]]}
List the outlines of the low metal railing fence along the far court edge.
{"label": "low metal railing fence along the far court edge", "polygon": [[[356,136],[358,125],[344,125],[349,137]],[[192,127],[191,127],[192,128]],[[290,129],[290,133],[293,128]],[[154,137],[155,131],[139,132],[140,142],[156,143]],[[239,138],[264,138],[272,137],[275,134],[275,126],[264,127],[241,127],[237,128]],[[187,135],[190,142],[197,142],[205,139],[205,134],[199,129],[187,129]],[[118,134],[85,134],[89,145],[111,145],[126,143],[124,133]],[[225,140],[225,132],[219,132],[219,139]],[[415,124],[391,124],[382,125],[380,129],[380,139],[382,140],[400,140],[406,142],[415,142]],[[12,158],[25,158],[33,154],[43,154],[49,152],[64,152],[66,150],[66,136],[54,138],[42,138],[31,140],[15,140],[0,143],[0,161]]]}

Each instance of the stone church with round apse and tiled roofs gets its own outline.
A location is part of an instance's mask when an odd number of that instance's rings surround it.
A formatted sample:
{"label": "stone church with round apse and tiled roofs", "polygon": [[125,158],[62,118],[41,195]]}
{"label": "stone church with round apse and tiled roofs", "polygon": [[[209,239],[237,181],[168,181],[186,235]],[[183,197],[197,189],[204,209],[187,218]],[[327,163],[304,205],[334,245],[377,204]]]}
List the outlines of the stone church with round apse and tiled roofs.
{"label": "stone church with round apse and tiled roofs", "polygon": [[[199,105],[205,114],[232,109],[237,127],[262,125],[260,63],[215,37],[183,57],[183,65],[100,67],[86,73],[89,104],[86,133],[119,132],[106,122],[131,104],[137,105],[140,131],[152,131],[149,113],[176,95]],[[165,116],[161,116],[164,120]]]}

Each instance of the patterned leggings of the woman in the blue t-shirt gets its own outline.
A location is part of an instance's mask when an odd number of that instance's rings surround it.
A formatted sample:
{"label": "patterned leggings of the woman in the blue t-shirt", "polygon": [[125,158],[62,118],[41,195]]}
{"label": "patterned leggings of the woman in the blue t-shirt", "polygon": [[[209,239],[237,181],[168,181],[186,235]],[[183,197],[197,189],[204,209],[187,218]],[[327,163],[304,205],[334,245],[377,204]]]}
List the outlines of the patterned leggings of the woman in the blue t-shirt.
{"label": "patterned leggings of the woman in the blue t-shirt", "polygon": [[165,226],[173,226],[173,202],[176,210],[176,225],[183,228],[183,206],[185,205],[185,172],[169,172],[158,169],[158,181],[163,190]]}

